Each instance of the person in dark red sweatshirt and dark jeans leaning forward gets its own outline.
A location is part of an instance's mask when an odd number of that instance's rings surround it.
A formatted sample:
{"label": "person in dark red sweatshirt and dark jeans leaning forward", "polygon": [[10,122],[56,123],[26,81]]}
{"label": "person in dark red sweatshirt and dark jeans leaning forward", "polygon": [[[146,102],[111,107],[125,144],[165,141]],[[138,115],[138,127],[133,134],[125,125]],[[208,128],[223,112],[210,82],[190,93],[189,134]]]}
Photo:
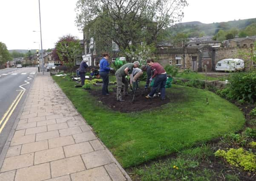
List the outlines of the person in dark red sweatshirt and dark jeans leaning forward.
{"label": "person in dark red sweatshirt and dark jeans leaning forward", "polygon": [[153,75],[151,78],[155,78],[154,85],[150,94],[146,96],[146,98],[153,98],[158,86],[160,85],[160,92],[161,92],[161,100],[165,100],[165,84],[167,80],[167,73],[159,63],[154,62],[153,59],[147,60],[147,64],[151,67],[153,71]]}

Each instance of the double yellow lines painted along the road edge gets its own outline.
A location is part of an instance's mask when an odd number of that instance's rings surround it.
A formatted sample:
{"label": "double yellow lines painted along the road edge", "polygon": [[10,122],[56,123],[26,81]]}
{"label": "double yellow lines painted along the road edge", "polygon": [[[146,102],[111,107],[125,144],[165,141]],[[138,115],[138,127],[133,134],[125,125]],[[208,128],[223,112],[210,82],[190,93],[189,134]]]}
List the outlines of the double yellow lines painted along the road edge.
{"label": "double yellow lines painted along the road edge", "polygon": [[12,102],[11,106],[8,108],[6,113],[3,115],[3,118],[0,120],[0,126],[1,126],[0,127],[0,133],[2,132],[4,126],[6,125],[7,121],[9,120],[9,118],[11,117],[14,109],[16,108],[18,103],[20,102],[20,99],[21,99],[21,97],[23,96],[24,93],[25,93],[25,90],[21,90],[20,91],[20,93],[15,98],[15,100]]}

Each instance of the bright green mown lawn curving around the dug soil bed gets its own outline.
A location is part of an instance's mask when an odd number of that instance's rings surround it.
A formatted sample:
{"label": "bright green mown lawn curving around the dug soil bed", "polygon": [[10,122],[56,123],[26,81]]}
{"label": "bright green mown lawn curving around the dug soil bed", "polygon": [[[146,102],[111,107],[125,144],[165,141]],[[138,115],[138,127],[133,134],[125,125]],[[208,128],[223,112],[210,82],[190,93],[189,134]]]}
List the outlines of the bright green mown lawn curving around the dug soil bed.
{"label": "bright green mown lawn curving around the dug soil bed", "polygon": [[245,122],[236,106],[207,90],[173,85],[167,95],[178,92],[182,99],[155,110],[120,113],[74,88],[68,77],[53,78],[123,167],[238,131]]}

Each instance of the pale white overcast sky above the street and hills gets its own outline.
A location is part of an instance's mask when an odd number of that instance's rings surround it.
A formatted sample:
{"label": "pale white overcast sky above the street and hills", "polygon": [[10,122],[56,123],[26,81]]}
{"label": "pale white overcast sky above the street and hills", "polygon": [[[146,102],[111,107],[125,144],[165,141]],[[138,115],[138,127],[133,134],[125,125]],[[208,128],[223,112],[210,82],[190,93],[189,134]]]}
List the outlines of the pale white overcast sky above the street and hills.
{"label": "pale white overcast sky above the street and hills", "polygon": [[[75,25],[77,0],[40,0],[43,49],[54,48],[66,34],[83,38]],[[187,0],[182,22],[224,22],[256,18],[256,0]],[[0,0],[0,42],[8,50],[38,49],[38,0]],[[37,42],[37,43],[34,43]]]}

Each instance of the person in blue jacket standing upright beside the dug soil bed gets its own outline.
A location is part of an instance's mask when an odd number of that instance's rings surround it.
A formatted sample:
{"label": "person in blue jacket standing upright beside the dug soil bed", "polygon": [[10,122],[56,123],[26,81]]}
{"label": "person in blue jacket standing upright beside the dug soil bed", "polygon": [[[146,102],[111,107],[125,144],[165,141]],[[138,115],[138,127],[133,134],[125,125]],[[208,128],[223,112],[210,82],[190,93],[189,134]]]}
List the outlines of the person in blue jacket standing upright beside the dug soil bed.
{"label": "person in blue jacket standing upright beside the dug soil bed", "polygon": [[108,85],[109,85],[109,71],[114,70],[112,67],[109,67],[109,54],[103,53],[102,59],[100,61],[100,75],[103,81],[102,85],[102,95],[109,95]]}

